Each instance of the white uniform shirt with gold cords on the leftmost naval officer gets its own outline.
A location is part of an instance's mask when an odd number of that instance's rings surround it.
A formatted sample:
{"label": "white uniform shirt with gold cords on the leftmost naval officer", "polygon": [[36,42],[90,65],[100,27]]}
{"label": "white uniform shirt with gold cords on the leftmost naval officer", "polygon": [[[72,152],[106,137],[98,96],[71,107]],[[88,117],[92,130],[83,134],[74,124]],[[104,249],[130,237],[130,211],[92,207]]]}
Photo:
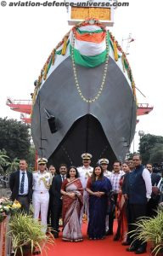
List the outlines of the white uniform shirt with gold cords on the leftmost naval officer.
{"label": "white uniform shirt with gold cords on the leftmost naval officer", "polygon": [[34,172],[33,173],[33,190],[43,192],[48,191],[51,185],[51,174],[45,172]]}

